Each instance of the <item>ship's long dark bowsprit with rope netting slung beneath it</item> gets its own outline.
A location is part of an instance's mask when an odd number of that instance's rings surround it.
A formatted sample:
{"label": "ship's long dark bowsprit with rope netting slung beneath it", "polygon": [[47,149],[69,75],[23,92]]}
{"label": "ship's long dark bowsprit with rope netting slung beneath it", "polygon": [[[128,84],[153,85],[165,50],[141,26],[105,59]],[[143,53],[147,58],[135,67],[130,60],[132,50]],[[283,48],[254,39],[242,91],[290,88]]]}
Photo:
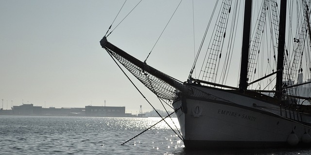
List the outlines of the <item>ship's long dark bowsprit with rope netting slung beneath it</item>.
{"label": "ship's long dark bowsprit with rope netting slung beneath it", "polygon": [[209,93],[198,90],[190,85],[172,78],[144,62],[132,57],[120,48],[115,47],[106,41],[104,37],[101,41],[102,47],[120,62],[129,72],[131,72],[138,80],[148,89],[157,95],[157,97],[166,100],[178,99],[178,95],[187,95],[205,99],[222,100]]}

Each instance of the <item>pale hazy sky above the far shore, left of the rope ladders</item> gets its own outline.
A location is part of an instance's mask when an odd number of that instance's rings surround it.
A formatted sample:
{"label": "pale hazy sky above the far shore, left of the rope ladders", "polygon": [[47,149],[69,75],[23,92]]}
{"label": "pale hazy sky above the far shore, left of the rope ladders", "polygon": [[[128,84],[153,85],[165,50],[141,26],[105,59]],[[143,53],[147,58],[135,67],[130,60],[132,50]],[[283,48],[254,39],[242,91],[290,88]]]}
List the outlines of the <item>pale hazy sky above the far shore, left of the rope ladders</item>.
{"label": "pale hazy sky above the far shore, left of the rope ladders", "polygon": [[[143,111],[150,111],[149,104],[99,44],[123,2],[0,0],[3,108],[8,103],[10,109],[12,101],[13,106],[21,105],[22,100],[43,108],[102,106],[106,100],[106,106],[125,106],[126,112],[133,114],[139,105]],[[125,3],[112,29],[137,3]],[[178,3],[142,1],[108,41],[144,61]],[[214,1],[194,0],[196,50],[213,6]],[[184,0],[147,63],[185,81],[194,60],[192,20],[192,0]],[[155,95],[136,78],[133,81],[155,108],[162,109]]]}

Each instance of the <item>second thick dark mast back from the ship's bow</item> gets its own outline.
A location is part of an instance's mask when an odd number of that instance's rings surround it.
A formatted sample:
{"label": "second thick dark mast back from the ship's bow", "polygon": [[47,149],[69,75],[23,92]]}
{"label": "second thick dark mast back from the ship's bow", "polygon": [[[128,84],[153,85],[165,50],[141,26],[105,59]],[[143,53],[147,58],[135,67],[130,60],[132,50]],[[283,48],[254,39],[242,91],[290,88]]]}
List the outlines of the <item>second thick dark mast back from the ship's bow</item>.
{"label": "second thick dark mast back from the ship's bow", "polygon": [[283,81],[283,60],[285,45],[285,27],[286,27],[286,3],[287,0],[281,0],[280,21],[278,30],[278,47],[277,47],[277,66],[276,70],[276,98],[282,99],[282,81]]}

